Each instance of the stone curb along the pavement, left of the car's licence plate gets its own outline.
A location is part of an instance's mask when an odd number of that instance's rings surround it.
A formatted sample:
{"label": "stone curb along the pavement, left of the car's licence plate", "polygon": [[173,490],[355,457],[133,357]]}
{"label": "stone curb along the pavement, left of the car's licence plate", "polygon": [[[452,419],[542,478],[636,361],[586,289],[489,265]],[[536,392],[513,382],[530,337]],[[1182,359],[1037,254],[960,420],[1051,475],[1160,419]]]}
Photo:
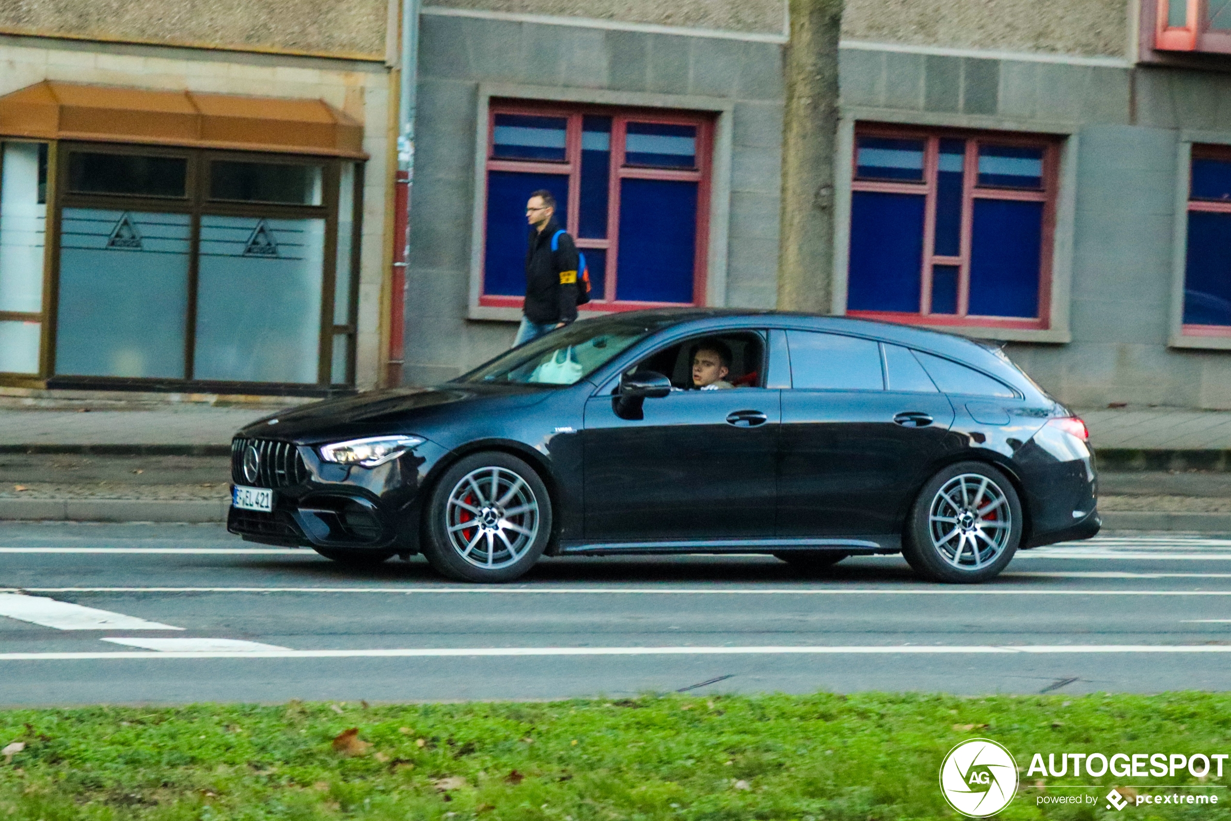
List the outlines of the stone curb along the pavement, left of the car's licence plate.
{"label": "stone curb along the pavement, left of the car's licence plate", "polygon": [[0,499],[0,519],[25,522],[225,522],[230,501]]}

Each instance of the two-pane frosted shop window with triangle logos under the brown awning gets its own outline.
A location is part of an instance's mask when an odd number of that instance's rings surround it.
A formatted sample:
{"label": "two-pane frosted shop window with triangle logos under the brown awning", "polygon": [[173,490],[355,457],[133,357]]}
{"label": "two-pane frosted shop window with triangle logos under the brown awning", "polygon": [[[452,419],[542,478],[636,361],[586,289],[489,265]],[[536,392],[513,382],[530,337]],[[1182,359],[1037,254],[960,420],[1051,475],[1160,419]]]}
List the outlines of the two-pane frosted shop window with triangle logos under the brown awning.
{"label": "two-pane frosted shop window with triangle logos under the brown awning", "polygon": [[353,384],[361,165],[84,144],[59,155],[60,384]]}

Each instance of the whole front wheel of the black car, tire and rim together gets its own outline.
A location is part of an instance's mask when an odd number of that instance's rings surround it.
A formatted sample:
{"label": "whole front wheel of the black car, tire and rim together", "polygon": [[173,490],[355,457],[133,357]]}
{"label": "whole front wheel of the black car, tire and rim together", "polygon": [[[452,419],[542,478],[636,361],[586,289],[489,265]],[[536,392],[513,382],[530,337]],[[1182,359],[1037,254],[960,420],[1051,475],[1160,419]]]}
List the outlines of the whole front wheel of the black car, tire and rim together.
{"label": "whole front wheel of the black car, tire and rim together", "polygon": [[507,453],[475,453],[436,483],[422,550],[449,579],[513,581],[543,555],[551,526],[551,499],[533,468]]}

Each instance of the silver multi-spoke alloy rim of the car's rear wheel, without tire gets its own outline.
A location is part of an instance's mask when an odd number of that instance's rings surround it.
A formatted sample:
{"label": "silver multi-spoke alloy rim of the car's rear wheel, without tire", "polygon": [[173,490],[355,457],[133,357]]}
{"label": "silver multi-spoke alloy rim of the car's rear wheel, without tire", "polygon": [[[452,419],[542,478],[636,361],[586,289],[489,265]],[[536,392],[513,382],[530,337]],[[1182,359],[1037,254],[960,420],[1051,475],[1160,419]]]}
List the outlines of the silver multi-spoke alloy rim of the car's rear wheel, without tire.
{"label": "silver multi-spoke alloy rim of the car's rear wheel, without tire", "polygon": [[964,473],[940,486],[928,507],[928,534],[937,554],[959,570],[981,570],[1008,547],[1013,513],[1004,491],[988,476]]}

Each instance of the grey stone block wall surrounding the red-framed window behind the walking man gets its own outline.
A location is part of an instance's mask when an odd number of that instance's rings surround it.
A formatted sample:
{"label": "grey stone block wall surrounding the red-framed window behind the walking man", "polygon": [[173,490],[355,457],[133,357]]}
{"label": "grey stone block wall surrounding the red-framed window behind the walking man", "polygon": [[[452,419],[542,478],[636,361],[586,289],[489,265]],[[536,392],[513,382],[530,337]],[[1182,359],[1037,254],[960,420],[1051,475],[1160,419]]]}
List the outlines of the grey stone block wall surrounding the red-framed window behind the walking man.
{"label": "grey stone block wall surrounding the red-framed window behind the walking man", "polygon": [[406,382],[451,379],[507,348],[516,330],[515,322],[467,319],[480,82],[732,101],[726,304],[773,304],[779,44],[425,14],[406,277]]}

